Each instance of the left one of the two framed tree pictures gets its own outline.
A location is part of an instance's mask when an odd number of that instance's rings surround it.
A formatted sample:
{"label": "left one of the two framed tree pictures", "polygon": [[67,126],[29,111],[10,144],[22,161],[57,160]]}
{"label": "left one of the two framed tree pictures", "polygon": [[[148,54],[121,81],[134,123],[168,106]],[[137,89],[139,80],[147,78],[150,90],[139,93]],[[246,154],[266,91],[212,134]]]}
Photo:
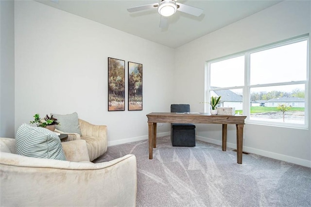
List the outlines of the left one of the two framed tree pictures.
{"label": "left one of the two framed tree pictures", "polygon": [[108,57],[108,111],[125,110],[125,61]]}

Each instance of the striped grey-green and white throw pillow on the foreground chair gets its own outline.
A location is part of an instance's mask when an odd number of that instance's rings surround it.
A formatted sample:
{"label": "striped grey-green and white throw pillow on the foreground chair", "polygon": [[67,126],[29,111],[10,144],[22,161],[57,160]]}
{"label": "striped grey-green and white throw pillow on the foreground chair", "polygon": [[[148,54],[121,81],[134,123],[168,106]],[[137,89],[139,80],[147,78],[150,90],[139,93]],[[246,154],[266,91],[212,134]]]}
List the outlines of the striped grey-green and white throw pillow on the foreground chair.
{"label": "striped grey-green and white throw pillow on the foreground chair", "polygon": [[48,129],[23,123],[15,139],[18,155],[66,160],[60,138]]}

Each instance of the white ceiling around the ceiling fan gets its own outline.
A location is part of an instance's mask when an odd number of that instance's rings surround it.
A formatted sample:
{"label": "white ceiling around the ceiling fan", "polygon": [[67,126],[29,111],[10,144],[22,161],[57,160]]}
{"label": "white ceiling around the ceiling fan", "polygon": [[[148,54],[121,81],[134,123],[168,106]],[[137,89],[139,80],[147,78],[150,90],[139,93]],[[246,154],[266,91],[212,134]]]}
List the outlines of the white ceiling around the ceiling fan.
{"label": "white ceiling around the ceiling fan", "polygon": [[[203,9],[200,17],[177,11],[169,25],[159,28],[156,9],[129,13],[130,7],[156,3],[158,0],[36,0],[46,5],[85,17],[148,39],[177,48],[244,17],[255,14],[282,0],[178,0],[179,3]],[[256,24],[256,22],[254,22]]]}

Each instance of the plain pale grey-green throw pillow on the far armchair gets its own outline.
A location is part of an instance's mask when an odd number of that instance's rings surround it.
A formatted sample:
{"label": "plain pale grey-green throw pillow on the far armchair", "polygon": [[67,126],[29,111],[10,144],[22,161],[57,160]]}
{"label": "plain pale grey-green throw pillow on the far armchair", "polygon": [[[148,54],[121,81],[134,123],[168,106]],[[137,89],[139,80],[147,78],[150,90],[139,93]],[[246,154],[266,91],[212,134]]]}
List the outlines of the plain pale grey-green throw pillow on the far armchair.
{"label": "plain pale grey-green throw pillow on the far armchair", "polygon": [[59,121],[60,125],[55,125],[57,130],[65,133],[77,133],[82,136],[79,127],[78,114],[76,112],[65,115],[52,113],[52,115],[57,121]]}

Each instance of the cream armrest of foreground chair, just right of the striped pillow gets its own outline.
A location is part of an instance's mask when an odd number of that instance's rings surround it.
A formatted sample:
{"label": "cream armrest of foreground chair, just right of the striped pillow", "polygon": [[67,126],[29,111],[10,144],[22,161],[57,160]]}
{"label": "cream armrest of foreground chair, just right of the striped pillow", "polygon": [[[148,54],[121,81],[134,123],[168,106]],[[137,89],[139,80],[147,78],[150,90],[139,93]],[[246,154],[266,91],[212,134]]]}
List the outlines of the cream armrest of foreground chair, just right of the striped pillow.
{"label": "cream armrest of foreground chair, just right of the striped pillow", "polygon": [[83,139],[62,142],[63,151],[67,161],[89,161],[86,141]]}

